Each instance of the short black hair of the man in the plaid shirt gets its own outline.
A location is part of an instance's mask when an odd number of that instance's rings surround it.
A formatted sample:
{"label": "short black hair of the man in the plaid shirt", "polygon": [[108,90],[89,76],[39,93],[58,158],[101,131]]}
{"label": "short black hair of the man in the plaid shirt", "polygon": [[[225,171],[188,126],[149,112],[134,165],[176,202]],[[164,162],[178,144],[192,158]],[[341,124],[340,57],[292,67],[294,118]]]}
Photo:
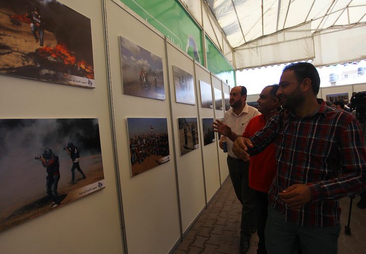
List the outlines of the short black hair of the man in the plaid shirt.
{"label": "short black hair of the man in the plaid shirt", "polygon": [[288,70],[294,71],[297,82],[299,83],[301,83],[302,80],[309,78],[312,81],[314,94],[318,94],[320,87],[320,77],[317,69],[310,62],[291,63],[291,65],[285,66],[282,73]]}

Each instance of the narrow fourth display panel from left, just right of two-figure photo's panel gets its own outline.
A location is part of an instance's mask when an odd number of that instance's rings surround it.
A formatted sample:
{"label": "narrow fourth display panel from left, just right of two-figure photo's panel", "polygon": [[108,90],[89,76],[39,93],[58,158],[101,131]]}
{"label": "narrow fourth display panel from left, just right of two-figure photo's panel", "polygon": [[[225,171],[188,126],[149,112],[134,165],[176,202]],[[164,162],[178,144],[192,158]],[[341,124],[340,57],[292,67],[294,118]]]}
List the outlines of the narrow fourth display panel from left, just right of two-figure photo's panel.
{"label": "narrow fourth display panel from left, just right of two-figure photo's panel", "polygon": [[214,103],[212,97],[211,75],[207,69],[195,63],[196,87],[198,98],[198,115],[200,132],[203,140],[201,146],[203,169],[206,189],[206,203],[208,204],[220,188],[219,159],[212,122],[214,121]]}

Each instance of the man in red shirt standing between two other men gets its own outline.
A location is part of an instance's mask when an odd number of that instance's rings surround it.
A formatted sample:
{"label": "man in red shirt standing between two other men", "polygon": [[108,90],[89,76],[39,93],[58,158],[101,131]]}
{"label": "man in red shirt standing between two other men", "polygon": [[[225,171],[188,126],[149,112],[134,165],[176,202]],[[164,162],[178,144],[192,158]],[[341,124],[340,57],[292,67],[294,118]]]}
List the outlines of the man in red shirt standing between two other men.
{"label": "man in red shirt standing between two other men", "polygon": [[[253,117],[247,125],[243,137],[252,137],[261,130],[266,122],[279,111],[280,101],[276,96],[279,86],[277,84],[264,87],[259,94],[258,111],[261,115]],[[258,249],[257,254],[266,254],[264,229],[267,220],[268,192],[277,171],[275,146],[269,145],[261,153],[250,158],[249,186],[255,190],[256,210],[258,220]]]}

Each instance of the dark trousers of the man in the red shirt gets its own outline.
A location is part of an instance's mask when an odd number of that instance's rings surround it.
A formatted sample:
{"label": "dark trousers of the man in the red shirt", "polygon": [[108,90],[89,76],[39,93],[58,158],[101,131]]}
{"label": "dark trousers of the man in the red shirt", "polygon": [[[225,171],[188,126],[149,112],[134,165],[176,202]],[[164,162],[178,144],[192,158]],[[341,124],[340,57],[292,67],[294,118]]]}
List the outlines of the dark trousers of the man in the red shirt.
{"label": "dark trousers of the man in the red shirt", "polygon": [[267,254],[265,248],[264,230],[268,215],[268,193],[255,191],[256,194],[256,211],[258,221],[258,249],[257,254]]}

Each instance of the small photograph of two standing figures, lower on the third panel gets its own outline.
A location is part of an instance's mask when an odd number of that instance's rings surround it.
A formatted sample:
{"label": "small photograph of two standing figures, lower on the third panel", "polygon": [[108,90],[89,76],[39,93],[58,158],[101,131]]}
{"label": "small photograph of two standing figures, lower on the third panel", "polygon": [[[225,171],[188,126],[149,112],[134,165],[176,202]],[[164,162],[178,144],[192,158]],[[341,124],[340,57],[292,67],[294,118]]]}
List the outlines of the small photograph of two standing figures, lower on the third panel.
{"label": "small photograph of two standing figures, lower on the third panel", "polygon": [[199,147],[197,118],[178,118],[180,155]]}

